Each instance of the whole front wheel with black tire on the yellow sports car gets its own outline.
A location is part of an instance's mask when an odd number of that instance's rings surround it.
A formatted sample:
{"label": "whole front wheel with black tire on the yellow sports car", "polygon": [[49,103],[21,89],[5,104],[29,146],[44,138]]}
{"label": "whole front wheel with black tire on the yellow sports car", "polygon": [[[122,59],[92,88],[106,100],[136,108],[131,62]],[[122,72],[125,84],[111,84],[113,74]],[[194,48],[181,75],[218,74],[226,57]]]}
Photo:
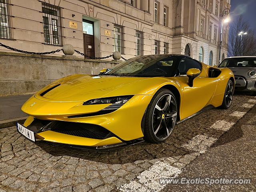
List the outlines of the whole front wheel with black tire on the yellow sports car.
{"label": "whole front wheel with black tire on the yellow sports car", "polygon": [[178,105],[174,94],[160,89],[153,96],[145,114],[144,139],[152,143],[165,141],[176,124]]}

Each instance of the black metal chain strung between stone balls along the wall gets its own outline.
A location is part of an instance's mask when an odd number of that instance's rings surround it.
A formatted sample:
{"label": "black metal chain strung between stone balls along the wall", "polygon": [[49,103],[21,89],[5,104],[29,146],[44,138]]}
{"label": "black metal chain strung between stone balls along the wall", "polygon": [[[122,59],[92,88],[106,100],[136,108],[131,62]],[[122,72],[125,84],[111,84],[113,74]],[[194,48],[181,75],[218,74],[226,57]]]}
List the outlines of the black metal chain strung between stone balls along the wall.
{"label": "black metal chain strung between stone balls along the wall", "polygon": [[[63,49],[57,49],[55,51],[50,51],[50,52],[30,52],[30,51],[24,51],[24,50],[19,50],[19,49],[16,49],[16,48],[12,48],[12,47],[4,45],[2,43],[0,43],[0,46],[2,46],[4,48],[7,48],[7,49],[10,49],[12,51],[20,52],[20,53],[37,54],[37,55],[53,54],[53,53],[57,53],[57,52],[63,51]],[[92,56],[85,55],[84,53],[81,53],[78,50],[75,50],[75,52],[77,52],[78,54],[80,54],[82,56],[85,56],[86,58],[89,58],[89,59],[106,59],[106,58],[110,58],[110,57],[113,56],[113,54],[111,54],[111,55],[106,56],[106,57],[92,57]],[[126,61],[126,59],[124,57],[121,57],[121,58]]]}

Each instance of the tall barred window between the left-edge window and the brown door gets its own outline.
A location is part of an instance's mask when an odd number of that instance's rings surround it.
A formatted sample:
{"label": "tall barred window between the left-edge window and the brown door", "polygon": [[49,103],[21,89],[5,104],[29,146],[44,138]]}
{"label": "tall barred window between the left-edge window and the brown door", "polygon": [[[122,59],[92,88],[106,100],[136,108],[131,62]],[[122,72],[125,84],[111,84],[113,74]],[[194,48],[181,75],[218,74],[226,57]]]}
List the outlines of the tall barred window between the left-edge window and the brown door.
{"label": "tall barred window between the left-edge window and the brown door", "polygon": [[42,3],[44,43],[62,45],[60,7]]}

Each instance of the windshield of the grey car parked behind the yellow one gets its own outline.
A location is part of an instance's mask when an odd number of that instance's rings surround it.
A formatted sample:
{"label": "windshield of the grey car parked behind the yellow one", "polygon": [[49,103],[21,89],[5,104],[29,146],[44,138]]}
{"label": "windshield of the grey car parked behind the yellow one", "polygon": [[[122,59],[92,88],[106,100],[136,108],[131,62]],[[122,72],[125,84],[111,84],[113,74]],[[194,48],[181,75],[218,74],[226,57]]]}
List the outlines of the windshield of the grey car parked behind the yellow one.
{"label": "windshield of the grey car parked behind the yellow one", "polygon": [[219,67],[256,67],[256,57],[226,58]]}

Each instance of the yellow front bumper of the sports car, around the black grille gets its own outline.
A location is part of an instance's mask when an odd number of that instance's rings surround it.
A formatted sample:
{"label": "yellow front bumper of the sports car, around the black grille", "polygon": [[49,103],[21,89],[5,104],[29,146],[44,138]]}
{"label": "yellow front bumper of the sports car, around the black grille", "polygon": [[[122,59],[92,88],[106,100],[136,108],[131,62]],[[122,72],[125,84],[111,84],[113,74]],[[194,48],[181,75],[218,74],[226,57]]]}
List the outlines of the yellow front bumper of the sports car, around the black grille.
{"label": "yellow front bumper of the sports car, around the black grille", "polygon": [[[49,102],[32,97],[22,106],[22,111],[30,115],[24,123],[24,126],[31,129],[30,124],[32,125],[35,118],[38,120],[63,122],[64,124],[90,124],[91,126],[100,126],[108,130],[112,136],[98,139],[88,138],[86,136],[75,136],[67,132],[45,130],[37,132],[36,138],[76,146],[119,144],[144,136],[141,129],[141,122],[151,99],[152,96],[150,95],[136,95],[114,112],[88,116],[90,113],[94,114],[100,111],[102,108],[108,106],[108,104],[83,106],[81,102]],[[69,118],[70,116],[82,114],[82,112],[86,112],[84,114],[87,116]]]}

